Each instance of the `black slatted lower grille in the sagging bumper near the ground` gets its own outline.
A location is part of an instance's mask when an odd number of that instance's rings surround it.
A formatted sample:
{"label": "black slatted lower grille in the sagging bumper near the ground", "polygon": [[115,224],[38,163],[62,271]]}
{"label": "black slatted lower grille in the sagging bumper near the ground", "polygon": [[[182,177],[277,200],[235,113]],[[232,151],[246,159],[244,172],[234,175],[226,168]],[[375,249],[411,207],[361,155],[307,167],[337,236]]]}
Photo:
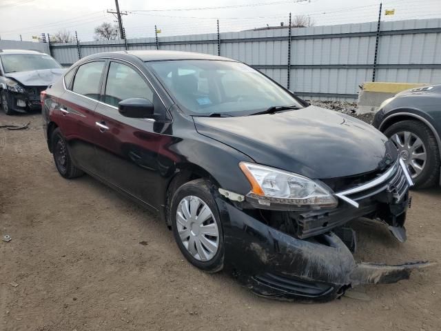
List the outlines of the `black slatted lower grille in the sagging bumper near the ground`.
{"label": "black slatted lower grille in the sagging bumper near the ground", "polygon": [[280,290],[283,292],[288,292],[291,294],[296,294],[301,297],[321,297],[334,288],[331,285],[301,281],[299,279],[293,279],[291,277],[286,277],[284,275],[272,274],[265,272],[265,274],[259,274],[253,277],[254,281],[258,281],[263,285],[267,285],[275,290]]}

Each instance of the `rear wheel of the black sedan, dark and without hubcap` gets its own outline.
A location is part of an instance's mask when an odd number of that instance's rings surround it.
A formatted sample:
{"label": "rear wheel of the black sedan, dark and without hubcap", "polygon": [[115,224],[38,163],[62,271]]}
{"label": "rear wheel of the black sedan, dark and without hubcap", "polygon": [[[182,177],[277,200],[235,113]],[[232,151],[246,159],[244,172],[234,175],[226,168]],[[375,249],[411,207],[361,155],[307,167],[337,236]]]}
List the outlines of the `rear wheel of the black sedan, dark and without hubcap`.
{"label": "rear wheel of the black sedan, dark and without hubcap", "polygon": [[76,168],[72,162],[68,143],[66,143],[59,128],[56,128],[54,132],[52,132],[50,143],[52,146],[52,155],[54,157],[55,166],[62,177],[72,179],[84,174],[84,172],[79,168]]}

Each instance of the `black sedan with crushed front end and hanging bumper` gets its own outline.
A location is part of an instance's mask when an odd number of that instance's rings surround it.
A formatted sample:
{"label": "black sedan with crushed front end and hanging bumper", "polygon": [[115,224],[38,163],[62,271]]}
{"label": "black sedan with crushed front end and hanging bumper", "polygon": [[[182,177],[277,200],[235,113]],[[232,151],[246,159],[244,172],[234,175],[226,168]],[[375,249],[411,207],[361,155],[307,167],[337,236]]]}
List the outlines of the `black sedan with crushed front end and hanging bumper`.
{"label": "black sedan with crushed front end and hanging bumper", "polygon": [[244,63],[129,51],[81,59],[41,94],[66,179],[84,172],[157,212],[185,258],[266,297],[333,299],[425,263],[356,263],[347,222],[399,241],[412,184],[372,126],[309,106]]}

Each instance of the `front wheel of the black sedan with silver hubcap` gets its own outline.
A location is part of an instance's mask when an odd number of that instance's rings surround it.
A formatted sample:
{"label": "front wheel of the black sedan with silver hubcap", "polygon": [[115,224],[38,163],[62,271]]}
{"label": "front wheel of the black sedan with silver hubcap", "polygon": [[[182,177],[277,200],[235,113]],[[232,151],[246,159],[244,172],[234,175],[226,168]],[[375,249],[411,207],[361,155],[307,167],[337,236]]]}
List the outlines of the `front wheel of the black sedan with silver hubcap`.
{"label": "front wheel of the black sedan with silver hubcap", "polygon": [[[195,179],[183,184],[176,190],[170,203],[170,219],[174,239],[185,259],[205,272],[218,272],[223,269],[223,228],[218,207],[210,190],[211,187],[212,183],[205,179]],[[185,199],[187,199],[189,206],[187,209],[189,214],[187,215],[183,211]],[[197,208],[194,207],[196,205]],[[209,209],[207,210],[207,208]],[[211,216],[205,217],[208,212],[211,212]],[[205,221],[198,223],[200,222],[197,221],[199,217]],[[187,241],[181,239],[181,236],[187,236]],[[215,242],[216,252],[214,252],[213,244]]]}

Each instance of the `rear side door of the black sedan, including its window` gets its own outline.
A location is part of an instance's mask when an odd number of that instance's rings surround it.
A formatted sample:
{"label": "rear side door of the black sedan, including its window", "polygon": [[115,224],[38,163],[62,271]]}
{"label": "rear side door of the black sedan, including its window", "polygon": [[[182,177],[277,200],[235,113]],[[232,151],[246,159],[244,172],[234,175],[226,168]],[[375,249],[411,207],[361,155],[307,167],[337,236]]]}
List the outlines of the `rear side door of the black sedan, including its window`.
{"label": "rear side door of the black sedan, including its window", "polygon": [[96,172],[94,140],[97,135],[96,114],[105,60],[89,61],[65,76],[66,92],[59,100],[60,128],[68,141],[76,164]]}

